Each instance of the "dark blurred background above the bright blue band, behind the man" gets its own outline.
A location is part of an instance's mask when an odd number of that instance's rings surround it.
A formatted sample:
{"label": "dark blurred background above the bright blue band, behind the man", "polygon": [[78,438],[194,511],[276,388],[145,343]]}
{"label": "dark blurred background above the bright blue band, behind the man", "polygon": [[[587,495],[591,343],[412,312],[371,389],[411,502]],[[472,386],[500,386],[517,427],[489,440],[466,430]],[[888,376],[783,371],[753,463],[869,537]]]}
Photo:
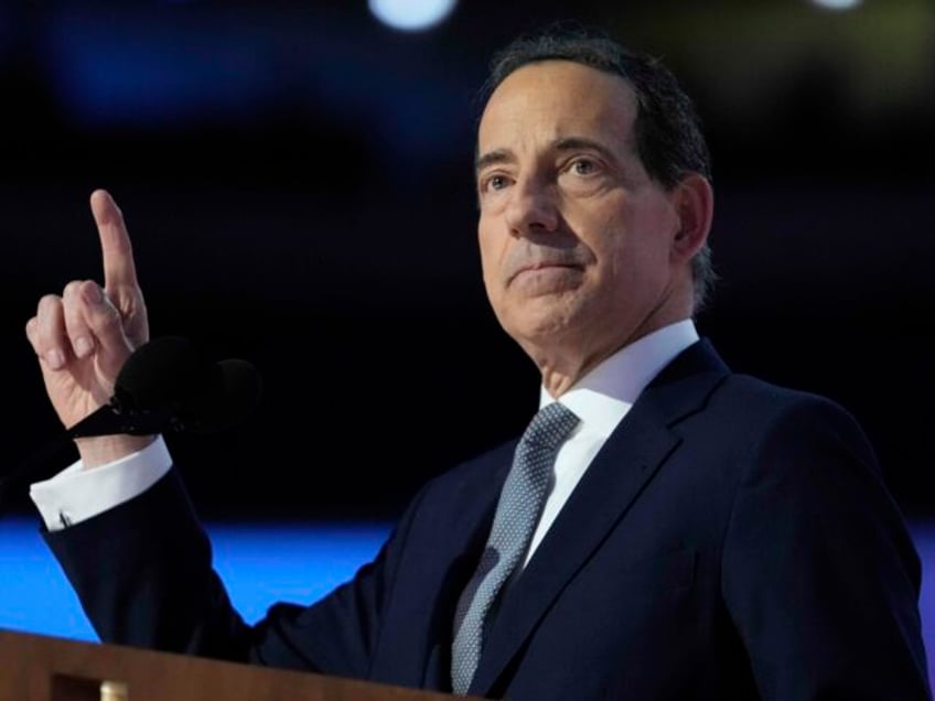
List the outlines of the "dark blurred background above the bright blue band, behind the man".
{"label": "dark blurred background above the bright blue band, behind the man", "polygon": [[929,0],[474,1],[424,33],[363,1],[3,0],[3,472],[61,431],[23,325],[100,279],[95,187],[152,335],[264,378],[237,429],[169,439],[203,513],[395,515],[522,429],[538,377],[481,284],[473,98],[492,51],[571,19],[662,56],[705,117],[723,282],[700,330],[850,408],[899,502],[935,515]]}

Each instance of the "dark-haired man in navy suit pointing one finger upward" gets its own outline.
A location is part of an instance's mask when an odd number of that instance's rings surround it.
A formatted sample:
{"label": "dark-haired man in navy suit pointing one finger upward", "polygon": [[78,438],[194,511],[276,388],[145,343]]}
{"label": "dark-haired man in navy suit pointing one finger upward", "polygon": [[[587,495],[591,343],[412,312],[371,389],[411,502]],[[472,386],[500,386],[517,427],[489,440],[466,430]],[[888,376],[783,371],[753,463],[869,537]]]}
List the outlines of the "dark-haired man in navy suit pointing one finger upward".
{"label": "dark-haired man in navy suit pointing one finger upward", "polygon": [[[353,581],[256,626],[163,441],[83,439],[32,494],[100,637],[514,700],[929,698],[918,557],[860,427],[698,336],[713,197],[673,76],[546,34],[488,87],[484,283],[561,427],[432,479]],[[148,338],[121,214],[104,191],[92,208],[104,289],[73,281],[26,325],[66,425]]]}

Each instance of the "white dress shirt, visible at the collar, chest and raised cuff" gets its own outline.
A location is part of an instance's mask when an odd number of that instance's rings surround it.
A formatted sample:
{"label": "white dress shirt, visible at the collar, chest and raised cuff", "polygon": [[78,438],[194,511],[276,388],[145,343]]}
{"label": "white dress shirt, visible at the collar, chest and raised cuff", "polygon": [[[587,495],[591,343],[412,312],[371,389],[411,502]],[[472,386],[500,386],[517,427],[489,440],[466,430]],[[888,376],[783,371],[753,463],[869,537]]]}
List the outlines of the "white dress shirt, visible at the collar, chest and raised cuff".
{"label": "white dress shirt, visible at the collar, chest and raised cuff", "polygon": [[[643,388],[678,353],[698,339],[691,320],[670,324],[619,350],[561,396],[580,419],[556,457],[555,481],[526,558],[535,551],[591,460]],[[554,401],[542,388],[540,406]],[[30,486],[30,497],[49,530],[58,530],[127,502],[158,482],[172,466],[162,436],[119,461],[83,470],[77,461]]]}

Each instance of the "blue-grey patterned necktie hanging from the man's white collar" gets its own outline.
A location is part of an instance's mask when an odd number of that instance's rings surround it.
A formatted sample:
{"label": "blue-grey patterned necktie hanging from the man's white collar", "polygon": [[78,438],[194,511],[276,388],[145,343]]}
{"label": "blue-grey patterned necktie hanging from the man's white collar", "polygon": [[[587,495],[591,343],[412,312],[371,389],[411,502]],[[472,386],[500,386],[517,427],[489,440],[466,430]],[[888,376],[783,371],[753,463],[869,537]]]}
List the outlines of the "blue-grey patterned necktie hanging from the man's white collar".
{"label": "blue-grey patterned necktie hanging from the man's white collar", "polygon": [[578,422],[578,417],[559,402],[546,405],[516,446],[481,562],[458,602],[451,658],[455,693],[464,694],[471,686],[484,643],[484,622],[503,583],[529,547],[556,453]]}

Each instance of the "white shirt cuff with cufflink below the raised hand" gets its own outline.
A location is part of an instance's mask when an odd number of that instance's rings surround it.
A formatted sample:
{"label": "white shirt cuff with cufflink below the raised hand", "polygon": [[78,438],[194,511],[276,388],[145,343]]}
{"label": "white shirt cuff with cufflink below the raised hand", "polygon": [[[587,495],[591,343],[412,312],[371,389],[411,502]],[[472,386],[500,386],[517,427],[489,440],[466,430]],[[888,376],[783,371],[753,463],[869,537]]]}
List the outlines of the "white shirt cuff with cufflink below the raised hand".
{"label": "white shirt cuff with cufflink below the raised hand", "polygon": [[82,461],[43,482],[30,485],[30,498],[49,530],[61,530],[127,502],[159,481],[172,466],[159,435],[141,451],[94,470]]}

